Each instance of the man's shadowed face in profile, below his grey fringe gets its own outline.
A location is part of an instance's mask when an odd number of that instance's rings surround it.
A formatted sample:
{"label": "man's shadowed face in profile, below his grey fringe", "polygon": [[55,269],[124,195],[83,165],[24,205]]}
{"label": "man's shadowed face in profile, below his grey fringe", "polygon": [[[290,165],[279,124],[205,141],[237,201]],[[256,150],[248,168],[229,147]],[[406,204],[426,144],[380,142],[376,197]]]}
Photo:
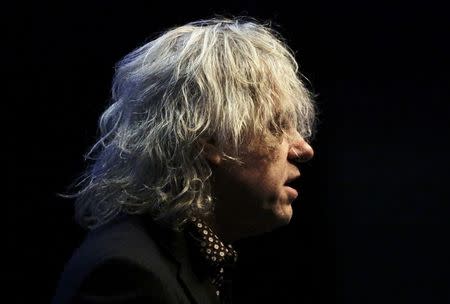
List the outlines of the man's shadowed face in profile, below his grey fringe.
{"label": "man's shadowed face in profile, below his grey fringe", "polygon": [[[298,192],[289,185],[300,176],[299,161],[312,158],[311,146],[296,132],[283,136],[267,152],[256,146],[241,157],[243,165],[222,161],[213,167],[217,229],[230,240],[288,224]],[[263,152],[265,151],[265,152]]]}

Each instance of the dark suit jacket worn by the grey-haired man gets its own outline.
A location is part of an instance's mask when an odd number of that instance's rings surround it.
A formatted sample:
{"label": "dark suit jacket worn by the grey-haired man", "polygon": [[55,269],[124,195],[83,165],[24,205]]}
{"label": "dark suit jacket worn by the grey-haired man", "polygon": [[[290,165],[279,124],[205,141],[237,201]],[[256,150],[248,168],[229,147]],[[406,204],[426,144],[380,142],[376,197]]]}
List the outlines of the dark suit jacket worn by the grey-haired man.
{"label": "dark suit jacket worn by the grey-haired man", "polygon": [[66,265],[52,303],[219,303],[193,261],[183,233],[125,216],[87,235]]}

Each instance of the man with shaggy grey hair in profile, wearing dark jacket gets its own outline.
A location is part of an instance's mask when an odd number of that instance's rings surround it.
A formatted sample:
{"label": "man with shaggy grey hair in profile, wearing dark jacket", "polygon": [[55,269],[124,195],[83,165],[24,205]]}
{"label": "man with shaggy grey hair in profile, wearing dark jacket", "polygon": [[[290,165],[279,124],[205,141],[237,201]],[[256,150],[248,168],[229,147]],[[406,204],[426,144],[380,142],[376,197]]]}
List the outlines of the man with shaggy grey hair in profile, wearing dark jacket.
{"label": "man with shaggy grey hair in profile, wearing dark jacket", "polygon": [[177,27],[117,65],[89,228],[53,303],[229,303],[231,243],[289,223],[314,105],[291,52],[241,20]]}

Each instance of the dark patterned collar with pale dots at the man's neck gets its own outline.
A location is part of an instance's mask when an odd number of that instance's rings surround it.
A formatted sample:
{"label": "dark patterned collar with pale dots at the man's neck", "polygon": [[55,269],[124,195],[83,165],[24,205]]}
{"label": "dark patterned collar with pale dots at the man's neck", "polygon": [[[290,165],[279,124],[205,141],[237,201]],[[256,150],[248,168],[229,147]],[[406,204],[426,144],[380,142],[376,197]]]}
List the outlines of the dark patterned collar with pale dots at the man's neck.
{"label": "dark patterned collar with pale dots at the man's neck", "polygon": [[231,244],[224,244],[202,220],[193,217],[187,235],[194,254],[205,265],[216,294],[222,303],[231,303],[231,271],[237,261],[237,252]]}

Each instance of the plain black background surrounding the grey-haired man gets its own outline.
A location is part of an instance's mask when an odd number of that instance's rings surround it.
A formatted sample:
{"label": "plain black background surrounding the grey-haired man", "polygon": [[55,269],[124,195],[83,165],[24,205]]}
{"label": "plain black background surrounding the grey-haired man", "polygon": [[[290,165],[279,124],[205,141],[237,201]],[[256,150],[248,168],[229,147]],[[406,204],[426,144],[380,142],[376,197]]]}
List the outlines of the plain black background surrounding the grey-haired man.
{"label": "plain black background surrounding the grey-haired man", "polygon": [[214,14],[271,20],[320,109],[292,223],[236,244],[235,302],[450,303],[448,12],[433,1],[5,7],[4,303],[48,303],[82,239],[57,193],[85,166],[114,64]]}

